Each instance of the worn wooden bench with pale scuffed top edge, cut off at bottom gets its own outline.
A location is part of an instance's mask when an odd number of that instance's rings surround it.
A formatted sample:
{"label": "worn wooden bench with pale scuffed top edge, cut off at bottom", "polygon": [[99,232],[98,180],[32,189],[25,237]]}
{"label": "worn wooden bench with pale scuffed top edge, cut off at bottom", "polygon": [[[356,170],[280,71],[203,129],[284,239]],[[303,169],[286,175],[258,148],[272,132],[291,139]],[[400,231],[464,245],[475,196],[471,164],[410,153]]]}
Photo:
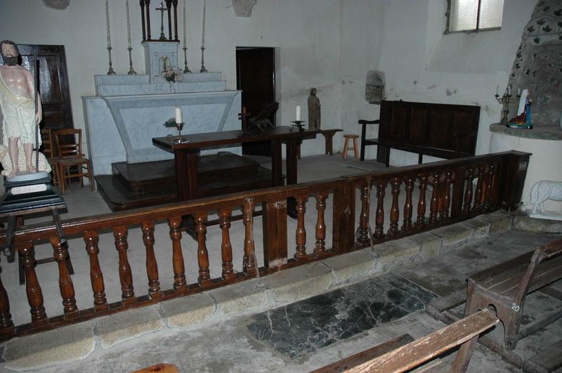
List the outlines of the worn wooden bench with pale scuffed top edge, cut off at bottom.
{"label": "worn wooden bench with pale scuffed top edge, cut off at bottom", "polygon": [[[490,310],[482,310],[474,315],[443,327],[427,336],[410,341],[407,334],[382,343],[314,371],[328,372],[405,372],[427,362],[456,346],[465,346],[486,330],[497,324],[498,319]],[[410,341],[405,344],[404,341]],[[398,346],[397,346],[398,345]],[[459,351],[453,362],[451,372],[465,372],[474,345]]]}

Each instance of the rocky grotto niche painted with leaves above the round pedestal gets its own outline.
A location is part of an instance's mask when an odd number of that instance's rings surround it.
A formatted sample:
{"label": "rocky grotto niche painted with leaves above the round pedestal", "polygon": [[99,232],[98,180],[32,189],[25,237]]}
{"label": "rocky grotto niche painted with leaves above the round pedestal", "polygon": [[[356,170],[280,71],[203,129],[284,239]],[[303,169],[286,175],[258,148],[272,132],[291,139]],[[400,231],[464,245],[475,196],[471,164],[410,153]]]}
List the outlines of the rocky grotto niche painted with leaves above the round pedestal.
{"label": "rocky grotto niche painted with leaves above the round pedestal", "polygon": [[[509,84],[533,96],[532,123],[558,127],[562,114],[562,6],[559,0],[540,0],[523,30]],[[516,112],[518,101],[510,103]]]}

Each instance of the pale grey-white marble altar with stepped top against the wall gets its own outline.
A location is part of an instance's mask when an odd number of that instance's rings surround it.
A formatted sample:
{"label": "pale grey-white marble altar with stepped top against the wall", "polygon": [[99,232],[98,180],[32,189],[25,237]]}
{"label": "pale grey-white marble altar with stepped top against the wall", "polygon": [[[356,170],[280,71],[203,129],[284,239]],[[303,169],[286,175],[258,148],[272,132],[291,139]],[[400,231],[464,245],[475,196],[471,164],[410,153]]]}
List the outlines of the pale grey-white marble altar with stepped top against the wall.
{"label": "pale grey-white marble altar with stepped top against the wall", "polygon": [[[89,157],[96,176],[111,174],[115,162],[173,159],[173,154],[152,145],[152,138],[177,135],[176,129],[164,127],[164,122],[174,117],[176,106],[183,111],[185,135],[241,127],[241,92],[227,91],[220,72],[183,74],[183,81],[169,84],[157,74],[158,66],[162,55],[170,56],[169,69],[178,65],[177,44],[150,44],[144,45],[149,74],[96,75],[96,96],[82,98]],[[170,51],[162,51],[163,45]],[[221,150],[241,154],[240,147]],[[202,154],[217,151],[204,150]]]}

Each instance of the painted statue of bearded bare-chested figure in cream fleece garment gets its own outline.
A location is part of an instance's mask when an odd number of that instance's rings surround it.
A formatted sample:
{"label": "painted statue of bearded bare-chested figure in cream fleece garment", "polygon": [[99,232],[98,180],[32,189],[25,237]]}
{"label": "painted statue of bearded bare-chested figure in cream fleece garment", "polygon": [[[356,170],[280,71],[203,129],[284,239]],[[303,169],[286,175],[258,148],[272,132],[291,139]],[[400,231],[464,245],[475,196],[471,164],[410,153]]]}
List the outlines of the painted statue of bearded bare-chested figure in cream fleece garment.
{"label": "painted statue of bearded bare-chested figure in cream fleece garment", "polygon": [[[0,66],[0,110],[2,112],[2,142],[8,145],[9,164],[2,157],[3,174],[11,178],[20,171],[37,171],[33,162],[33,148],[39,122],[43,118],[41,98],[37,93],[37,112],[35,110],[34,79],[29,70],[18,65],[20,55],[13,41],[0,42],[4,66]],[[37,136],[41,145],[41,136]],[[22,164],[21,155],[25,155]],[[5,154],[5,153],[4,153]],[[10,171],[8,171],[10,170]],[[46,171],[40,169],[40,171]],[[50,170],[49,170],[50,171]]]}

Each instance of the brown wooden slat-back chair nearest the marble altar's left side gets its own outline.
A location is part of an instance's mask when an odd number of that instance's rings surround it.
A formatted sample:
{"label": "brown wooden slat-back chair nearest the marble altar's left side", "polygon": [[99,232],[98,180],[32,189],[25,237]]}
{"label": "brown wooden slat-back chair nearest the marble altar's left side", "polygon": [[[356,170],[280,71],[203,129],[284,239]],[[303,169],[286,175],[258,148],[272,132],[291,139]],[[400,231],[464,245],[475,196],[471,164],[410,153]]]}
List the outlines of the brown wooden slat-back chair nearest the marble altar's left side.
{"label": "brown wooden slat-back chair nearest the marble altar's left side", "polygon": [[[78,141],[76,141],[77,137]],[[72,138],[72,140],[69,141],[69,138]],[[58,151],[58,175],[61,192],[65,194],[66,181],[70,178],[79,177],[80,185],[84,186],[84,176],[89,178],[90,190],[93,191],[92,166],[90,159],[84,157],[82,153],[81,129],[59,129],[55,131],[55,144]],[[74,167],[77,167],[77,172],[72,172]]]}

